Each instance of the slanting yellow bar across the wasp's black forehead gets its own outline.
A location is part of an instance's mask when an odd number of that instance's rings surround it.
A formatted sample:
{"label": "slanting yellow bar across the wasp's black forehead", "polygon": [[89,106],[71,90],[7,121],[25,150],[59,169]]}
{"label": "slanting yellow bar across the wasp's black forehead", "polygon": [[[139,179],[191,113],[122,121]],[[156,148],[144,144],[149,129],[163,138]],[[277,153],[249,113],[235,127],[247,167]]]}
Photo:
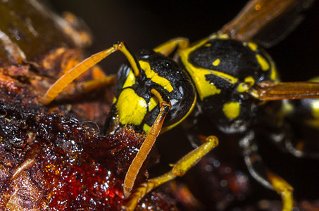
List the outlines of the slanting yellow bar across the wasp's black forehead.
{"label": "slanting yellow bar across the wasp's black forehead", "polygon": [[151,79],[152,82],[161,85],[161,87],[164,87],[164,89],[169,92],[173,91],[173,87],[168,79],[158,76],[158,74],[154,72],[154,70],[151,70],[151,66],[149,65],[149,63],[145,62],[144,60],[139,60],[139,65],[141,65],[141,68],[144,70],[146,77]]}

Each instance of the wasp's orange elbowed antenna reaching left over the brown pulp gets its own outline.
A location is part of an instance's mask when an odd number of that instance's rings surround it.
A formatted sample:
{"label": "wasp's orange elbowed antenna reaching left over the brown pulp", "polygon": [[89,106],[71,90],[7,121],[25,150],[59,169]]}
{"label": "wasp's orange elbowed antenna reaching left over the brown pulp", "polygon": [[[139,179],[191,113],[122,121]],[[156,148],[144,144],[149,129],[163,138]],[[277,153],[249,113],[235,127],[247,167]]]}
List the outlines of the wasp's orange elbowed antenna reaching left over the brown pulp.
{"label": "wasp's orange elbowed antenna reaching left over the brown pulp", "polygon": [[46,91],[46,94],[42,97],[42,103],[44,105],[51,103],[58,94],[60,94],[65,87],[68,86],[74,79],[79,77],[83,72],[87,71],[89,68],[92,68],[96,63],[99,63],[102,59],[109,56],[111,53],[115,51],[121,51],[129,60],[130,65],[132,66],[132,70],[134,71],[135,75],[139,75],[139,68],[137,65],[137,60],[132,53],[127,50],[127,47],[123,42],[120,44],[114,44],[111,48],[96,53],[89,58],[86,58],[81,63],[77,64],[74,68],[66,72],[63,76],[61,76],[50,88]]}

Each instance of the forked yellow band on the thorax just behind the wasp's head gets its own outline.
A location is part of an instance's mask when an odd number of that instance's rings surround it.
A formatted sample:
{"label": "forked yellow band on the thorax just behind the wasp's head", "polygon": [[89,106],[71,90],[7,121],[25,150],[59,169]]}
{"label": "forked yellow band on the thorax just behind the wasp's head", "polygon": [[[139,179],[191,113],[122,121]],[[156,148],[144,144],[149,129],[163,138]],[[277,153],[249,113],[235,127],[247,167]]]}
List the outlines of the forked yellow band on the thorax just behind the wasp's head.
{"label": "forked yellow band on the thorax just behind the wasp's head", "polygon": [[[213,36],[214,35],[212,35],[212,37]],[[214,84],[211,84],[211,82],[206,80],[206,75],[218,76],[222,79],[225,79],[225,81],[229,82],[230,84],[235,84],[238,81],[236,77],[227,75],[223,72],[219,72],[216,70],[208,70],[205,68],[199,68],[194,66],[192,63],[189,63],[188,61],[189,53],[199,48],[200,46],[203,46],[204,44],[206,44],[207,41],[208,39],[203,39],[199,41],[199,43],[189,47],[188,49],[181,49],[180,51],[178,51],[180,53],[180,58],[182,60],[182,63],[184,63],[187,69],[187,72],[189,72],[189,75],[191,75],[192,79],[194,80],[194,83],[196,84],[196,89],[199,93],[199,98],[201,98],[201,101],[203,101],[203,99],[208,96],[220,94],[220,91],[221,91],[220,89],[215,87]]]}

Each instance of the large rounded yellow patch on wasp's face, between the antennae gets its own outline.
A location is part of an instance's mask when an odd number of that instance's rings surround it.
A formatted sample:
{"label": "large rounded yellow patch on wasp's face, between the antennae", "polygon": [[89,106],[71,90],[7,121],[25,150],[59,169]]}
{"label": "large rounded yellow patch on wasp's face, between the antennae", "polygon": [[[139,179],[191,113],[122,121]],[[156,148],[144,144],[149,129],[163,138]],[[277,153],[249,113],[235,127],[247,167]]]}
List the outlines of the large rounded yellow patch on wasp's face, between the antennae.
{"label": "large rounded yellow patch on wasp's face, between the antennae", "polygon": [[144,98],[138,96],[133,89],[123,89],[116,103],[121,124],[142,123],[147,112],[147,104]]}

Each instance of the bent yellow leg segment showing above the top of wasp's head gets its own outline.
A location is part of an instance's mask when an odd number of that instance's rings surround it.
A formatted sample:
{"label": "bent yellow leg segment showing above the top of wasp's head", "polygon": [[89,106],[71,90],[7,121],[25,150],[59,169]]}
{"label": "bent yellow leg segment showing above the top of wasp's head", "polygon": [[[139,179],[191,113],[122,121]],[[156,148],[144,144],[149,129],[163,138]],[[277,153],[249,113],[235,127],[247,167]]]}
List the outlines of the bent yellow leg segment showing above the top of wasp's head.
{"label": "bent yellow leg segment showing above the top of wasp's head", "polygon": [[162,53],[163,55],[168,56],[176,49],[176,47],[178,49],[186,49],[188,46],[188,39],[184,37],[177,37],[175,39],[170,39],[169,41],[166,41],[165,43],[161,44],[160,46],[157,46],[153,50],[155,52]]}

